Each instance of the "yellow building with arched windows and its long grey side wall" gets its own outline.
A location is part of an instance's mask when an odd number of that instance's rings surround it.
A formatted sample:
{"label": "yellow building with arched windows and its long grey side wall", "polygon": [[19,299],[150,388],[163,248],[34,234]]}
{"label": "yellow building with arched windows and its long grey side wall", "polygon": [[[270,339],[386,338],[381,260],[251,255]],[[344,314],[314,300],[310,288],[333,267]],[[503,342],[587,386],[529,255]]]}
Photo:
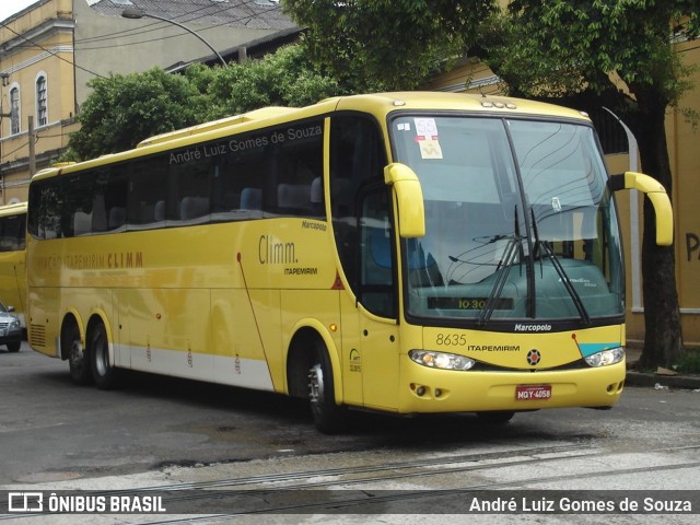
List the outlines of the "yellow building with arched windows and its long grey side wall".
{"label": "yellow building with arched windows and its long grey side wall", "polygon": [[31,173],[59,158],[91,79],[236,60],[252,44],[284,43],[299,32],[267,0],[148,2],[149,14],[172,22],[122,16],[137,4],[37,0],[0,21],[0,206],[26,200]]}

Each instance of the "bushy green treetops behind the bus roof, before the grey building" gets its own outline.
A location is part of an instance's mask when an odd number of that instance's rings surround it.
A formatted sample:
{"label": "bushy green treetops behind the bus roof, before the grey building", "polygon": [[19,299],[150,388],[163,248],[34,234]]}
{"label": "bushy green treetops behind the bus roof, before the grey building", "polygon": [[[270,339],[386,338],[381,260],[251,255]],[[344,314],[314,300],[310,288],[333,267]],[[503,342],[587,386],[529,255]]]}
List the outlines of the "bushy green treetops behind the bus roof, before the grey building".
{"label": "bushy green treetops behind the bus roof, before the grey building", "polygon": [[316,72],[301,46],[225,68],[194,65],[185,74],[152,69],[89,85],[93,91],[78,116],[81,128],[71,135],[63,160],[128,150],[153,135],[262,106],[304,106],[349,92]]}

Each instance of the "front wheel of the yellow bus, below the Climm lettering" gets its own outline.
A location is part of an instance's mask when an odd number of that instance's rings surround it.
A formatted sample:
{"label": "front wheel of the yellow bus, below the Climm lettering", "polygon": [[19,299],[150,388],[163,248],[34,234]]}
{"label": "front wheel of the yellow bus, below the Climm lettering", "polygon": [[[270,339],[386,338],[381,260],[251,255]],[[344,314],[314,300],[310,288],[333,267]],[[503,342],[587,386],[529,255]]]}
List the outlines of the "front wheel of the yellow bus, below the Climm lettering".
{"label": "front wheel of the yellow bus, below the Climm lettering", "polygon": [[318,431],[335,434],[343,430],[346,410],[336,405],[332,370],[323,343],[317,343],[314,363],[308,371],[308,400]]}

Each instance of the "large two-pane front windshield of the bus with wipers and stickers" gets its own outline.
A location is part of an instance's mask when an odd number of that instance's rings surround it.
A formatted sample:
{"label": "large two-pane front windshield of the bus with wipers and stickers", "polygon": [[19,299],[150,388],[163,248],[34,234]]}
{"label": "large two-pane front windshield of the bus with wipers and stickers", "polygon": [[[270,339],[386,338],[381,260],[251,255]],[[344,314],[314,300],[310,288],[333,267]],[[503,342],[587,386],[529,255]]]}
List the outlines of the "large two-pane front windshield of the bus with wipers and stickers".
{"label": "large two-pane front windshield of the bus with wipers and stickers", "polygon": [[617,215],[591,127],[411,115],[390,128],[425,207],[425,235],[402,240],[409,316],[623,314]]}

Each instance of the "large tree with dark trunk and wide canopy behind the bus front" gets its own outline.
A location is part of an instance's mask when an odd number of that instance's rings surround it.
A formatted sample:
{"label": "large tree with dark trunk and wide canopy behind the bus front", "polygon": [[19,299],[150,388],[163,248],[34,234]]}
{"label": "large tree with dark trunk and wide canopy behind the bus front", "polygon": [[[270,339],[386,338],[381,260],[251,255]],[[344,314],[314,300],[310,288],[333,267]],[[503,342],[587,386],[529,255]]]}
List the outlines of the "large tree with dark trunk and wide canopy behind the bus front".
{"label": "large tree with dark trunk and wide canopy behind the bus front", "polygon": [[[689,70],[672,42],[698,36],[700,0],[516,0],[508,11],[485,16],[494,3],[284,2],[310,28],[307,46],[316,60],[331,71],[366,74],[366,85],[413,88],[435,67],[435,52],[462,46],[462,56],[482,59],[512,94],[609,107],[634,131],[643,170],[670,195],[665,113],[689,86]],[[684,352],[674,249],[656,246],[646,201],[643,368],[669,365]]]}

